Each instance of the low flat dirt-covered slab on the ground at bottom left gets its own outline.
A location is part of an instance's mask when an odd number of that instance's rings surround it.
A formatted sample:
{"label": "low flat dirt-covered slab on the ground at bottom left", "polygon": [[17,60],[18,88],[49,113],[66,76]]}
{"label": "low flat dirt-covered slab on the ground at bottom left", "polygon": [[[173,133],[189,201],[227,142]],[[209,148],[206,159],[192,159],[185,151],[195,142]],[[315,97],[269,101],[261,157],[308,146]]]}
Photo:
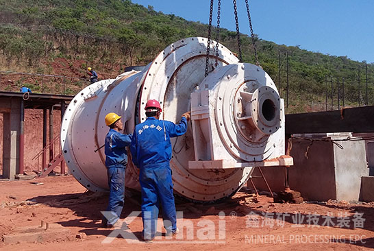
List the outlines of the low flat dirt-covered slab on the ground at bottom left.
{"label": "low flat dirt-covered slab on the ground at bottom left", "polygon": [[46,226],[22,227],[16,228],[14,232],[3,236],[5,245],[16,243],[34,243],[55,241],[58,239],[68,239],[71,236],[71,231],[59,224],[49,224]]}

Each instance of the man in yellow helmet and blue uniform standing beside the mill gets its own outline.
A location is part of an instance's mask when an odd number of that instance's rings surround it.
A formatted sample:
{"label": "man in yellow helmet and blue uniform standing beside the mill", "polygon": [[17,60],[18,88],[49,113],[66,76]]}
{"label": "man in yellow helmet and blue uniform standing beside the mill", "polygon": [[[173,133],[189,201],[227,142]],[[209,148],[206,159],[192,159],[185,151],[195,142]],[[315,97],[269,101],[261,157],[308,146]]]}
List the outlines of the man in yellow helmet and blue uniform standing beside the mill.
{"label": "man in yellow helmet and blue uniform standing beside the mill", "polygon": [[114,112],[105,116],[105,124],[110,127],[105,136],[105,166],[108,171],[110,189],[109,204],[106,211],[110,217],[103,219],[103,226],[112,228],[121,216],[125,202],[125,169],[127,165],[126,148],[132,141],[132,134],[122,134],[121,116]]}

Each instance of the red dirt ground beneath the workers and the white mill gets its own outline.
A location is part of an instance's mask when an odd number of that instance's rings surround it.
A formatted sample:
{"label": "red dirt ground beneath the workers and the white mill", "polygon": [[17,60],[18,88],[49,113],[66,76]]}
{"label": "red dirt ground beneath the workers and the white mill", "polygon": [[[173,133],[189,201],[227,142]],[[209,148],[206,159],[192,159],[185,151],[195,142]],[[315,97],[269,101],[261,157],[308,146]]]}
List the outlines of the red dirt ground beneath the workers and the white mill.
{"label": "red dirt ground beneath the workers and the white mill", "polygon": [[[38,181],[44,184],[35,185],[30,182]],[[153,243],[127,243],[121,235],[114,238],[110,244],[101,243],[112,230],[101,228],[101,213],[105,210],[108,198],[84,194],[82,187],[72,176],[47,177],[32,181],[0,182],[0,235],[14,232],[16,227],[37,226],[41,220],[60,224],[71,230],[67,239],[56,239],[43,243],[16,243],[5,245],[0,241],[3,250],[118,250],[132,248],[136,250],[365,250],[374,248],[374,204],[348,204],[347,202],[327,202],[325,204],[276,204],[272,198],[239,192],[234,198],[215,205],[201,205],[181,202],[177,200],[177,211],[184,212],[183,221],[190,220],[193,227],[192,238],[183,230],[180,236],[166,240],[166,237],[155,240]],[[80,198],[79,198],[80,197]],[[24,204],[11,207],[12,204],[31,200],[33,204]],[[140,211],[140,197],[132,193],[132,197],[125,201],[125,208],[121,215],[125,219],[129,213]],[[214,208],[212,208],[214,206]],[[223,211],[225,217],[220,219],[218,213]],[[353,228],[353,214],[359,212],[365,219],[362,228]],[[290,217],[271,224],[271,217],[260,219],[259,227],[253,226],[249,213],[289,213]],[[295,227],[293,217],[308,217],[310,213],[319,216],[318,225],[303,223]],[[338,224],[339,216],[346,216],[350,221],[349,227],[323,226],[321,215],[333,214],[332,222]],[[340,215],[342,214],[342,215]],[[271,215],[269,215],[271,216]],[[254,216],[252,216],[251,219]],[[178,219],[179,227],[182,219]],[[218,228],[225,226],[224,243],[201,243],[197,238],[198,232],[203,232],[205,224],[214,223],[215,232],[213,241],[219,239]],[[219,225],[224,222],[225,225]],[[279,224],[279,226],[277,226]],[[263,225],[263,226],[261,226]],[[248,228],[247,228],[248,226]],[[142,221],[136,217],[129,224],[129,231],[136,237],[141,236]],[[205,228],[206,230],[206,228]],[[75,236],[85,233],[82,239]],[[199,235],[201,236],[201,235]],[[161,241],[170,241],[162,243]],[[205,240],[206,241],[206,240]],[[208,239],[212,241],[212,239]]]}

